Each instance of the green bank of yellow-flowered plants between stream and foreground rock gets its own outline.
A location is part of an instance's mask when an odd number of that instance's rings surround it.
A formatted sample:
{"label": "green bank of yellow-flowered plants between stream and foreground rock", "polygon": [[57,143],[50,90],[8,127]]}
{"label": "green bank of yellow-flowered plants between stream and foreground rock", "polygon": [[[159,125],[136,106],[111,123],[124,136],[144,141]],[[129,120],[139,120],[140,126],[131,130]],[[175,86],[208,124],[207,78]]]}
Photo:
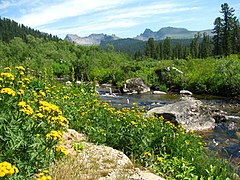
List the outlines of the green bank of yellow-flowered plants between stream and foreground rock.
{"label": "green bank of yellow-flowered plants between stream and foreground rock", "polygon": [[11,163],[9,170],[1,167],[3,178],[52,179],[46,170],[67,155],[61,146],[66,128],[123,151],[167,179],[235,178],[230,163],[210,155],[200,136],[162,117],[148,117],[136,104],[114,108],[99,100],[94,83],[49,83],[22,66],[0,73],[0,162]]}

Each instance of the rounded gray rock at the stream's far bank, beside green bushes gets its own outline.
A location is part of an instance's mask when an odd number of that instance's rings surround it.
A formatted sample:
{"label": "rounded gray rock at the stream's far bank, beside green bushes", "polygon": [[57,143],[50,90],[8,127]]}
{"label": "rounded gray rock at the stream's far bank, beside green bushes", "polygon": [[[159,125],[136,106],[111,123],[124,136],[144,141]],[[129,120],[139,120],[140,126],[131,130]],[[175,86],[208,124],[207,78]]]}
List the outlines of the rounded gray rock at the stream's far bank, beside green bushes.
{"label": "rounded gray rock at the stream's far bank, beside green bushes", "polygon": [[131,78],[126,80],[124,85],[124,93],[146,93],[149,92],[150,88],[144,84],[141,78]]}

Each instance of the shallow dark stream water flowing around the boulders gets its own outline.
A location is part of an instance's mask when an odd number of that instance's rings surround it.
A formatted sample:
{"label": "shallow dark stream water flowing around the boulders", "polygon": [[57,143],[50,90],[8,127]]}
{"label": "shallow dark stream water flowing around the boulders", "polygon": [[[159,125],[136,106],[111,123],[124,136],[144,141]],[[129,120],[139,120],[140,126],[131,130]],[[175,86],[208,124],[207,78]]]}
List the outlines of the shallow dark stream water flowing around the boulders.
{"label": "shallow dark stream water flowing around the boulders", "polygon": [[[103,101],[118,107],[131,107],[133,103],[144,106],[146,110],[153,107],[163,106],[180,100],[179,94],[154,95],[154,94],[110,94],[106,89],[99,89]],[[200,133],[213,151],[219,151],[231,161],[240,162],[240,100],[218,96],[201,95],[194,96],[205,104],[215,106],[217,109],[226,111],[229,120],[226,123],[216,125],[213,130]]]}

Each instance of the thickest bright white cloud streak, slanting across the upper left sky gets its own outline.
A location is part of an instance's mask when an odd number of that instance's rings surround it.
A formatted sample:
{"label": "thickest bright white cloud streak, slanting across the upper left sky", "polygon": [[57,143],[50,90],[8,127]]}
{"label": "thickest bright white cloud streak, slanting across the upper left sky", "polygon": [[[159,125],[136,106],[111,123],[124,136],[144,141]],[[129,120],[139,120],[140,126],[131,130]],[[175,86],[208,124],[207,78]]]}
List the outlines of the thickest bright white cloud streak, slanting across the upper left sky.
{"label": "thickest bright white cloud streak, slanting across the upper left sky", "polygon": [[34,8],[30,13],[17,19],[17,21],[26,25],[31,25],[32,27],[37,27],[56,22],[63,18],[80,16],[92,11],[107,9],[121,3],[122,0],[64,0],[59,4]]}

